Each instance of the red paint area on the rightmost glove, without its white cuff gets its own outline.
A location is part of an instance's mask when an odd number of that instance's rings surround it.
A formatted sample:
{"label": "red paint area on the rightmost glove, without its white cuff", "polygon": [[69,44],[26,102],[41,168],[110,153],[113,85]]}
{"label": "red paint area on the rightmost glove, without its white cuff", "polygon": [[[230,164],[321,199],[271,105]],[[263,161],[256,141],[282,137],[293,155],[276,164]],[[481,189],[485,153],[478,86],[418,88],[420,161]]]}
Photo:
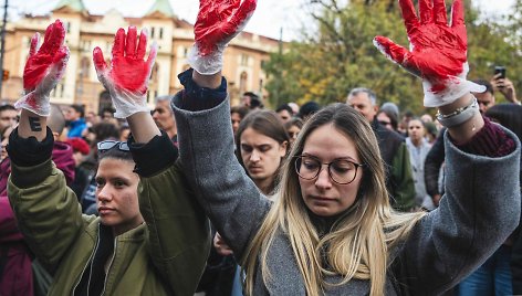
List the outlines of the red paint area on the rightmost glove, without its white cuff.
{"label": "red paint area on the rightmost glove, without its white cuff", "polygon": [[432,84],[432,92],[445,89],[452,76],[463,72],[467,62],[467,34],[461,0],[453,2],[451,25],[447,24],[443,0],[420,0],[417,18],[411,0],[399,0],[403,18],[413,50],[377,36],[388,56]]}

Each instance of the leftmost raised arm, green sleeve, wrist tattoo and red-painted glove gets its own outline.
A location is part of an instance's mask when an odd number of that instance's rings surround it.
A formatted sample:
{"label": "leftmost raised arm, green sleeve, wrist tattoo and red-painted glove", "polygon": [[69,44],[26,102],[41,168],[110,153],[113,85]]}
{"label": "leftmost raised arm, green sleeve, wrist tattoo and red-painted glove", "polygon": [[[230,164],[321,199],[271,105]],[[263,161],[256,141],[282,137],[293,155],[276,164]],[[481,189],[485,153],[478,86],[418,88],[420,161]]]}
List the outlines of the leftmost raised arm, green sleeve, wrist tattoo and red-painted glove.
{"label": "leftmost raised arm, green sleeve, wrist tattoo and red-painted glove", "polygon": [[46,127],[50,93],[69,59],[64,39],[60,20],[48,27],[40,47],[38,34],[32,38],[23,71],[25,95],[15,103],[22,108],[20,125],[8,146],[12,169],[9,201],[31,251],[50,269],[60,264],[86,222],[74,192],[51,161],[53,135]]}

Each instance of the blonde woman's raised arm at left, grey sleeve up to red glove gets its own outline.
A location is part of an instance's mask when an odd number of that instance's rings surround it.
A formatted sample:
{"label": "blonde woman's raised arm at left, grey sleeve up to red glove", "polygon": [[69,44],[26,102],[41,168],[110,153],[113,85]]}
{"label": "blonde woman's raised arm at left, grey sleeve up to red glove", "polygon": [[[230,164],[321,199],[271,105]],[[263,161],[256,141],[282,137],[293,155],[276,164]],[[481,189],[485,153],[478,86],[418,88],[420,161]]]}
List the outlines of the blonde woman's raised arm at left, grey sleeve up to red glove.
{"label": "blonde woman's raised arm at left, grey sleeve up to red glove", "polygon": [[212,224],[241,257],[270,202],[233,152],[222,53],[255,9],[255,0],[201,0],[189,53],[194,70],[178,77],[185,89],[173,101],[180,160]]}

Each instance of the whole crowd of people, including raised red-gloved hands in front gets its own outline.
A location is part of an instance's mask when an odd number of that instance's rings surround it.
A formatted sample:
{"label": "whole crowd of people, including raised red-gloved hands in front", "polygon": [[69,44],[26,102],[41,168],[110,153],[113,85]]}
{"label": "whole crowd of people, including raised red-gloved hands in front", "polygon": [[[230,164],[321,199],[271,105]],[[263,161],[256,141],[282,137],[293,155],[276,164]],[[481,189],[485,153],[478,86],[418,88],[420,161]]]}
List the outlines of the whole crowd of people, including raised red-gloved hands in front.
{"label": "whole crowd of people, including raised red-gloved hands in front", "polygon": [[450,25],[443,1],[399,3],[415,46],[374,43],[435,117],[364,86],[230,106],[222,55],[255,0],[201,0],[184,91],[152,110],[157,49],[119,29],[111,64],[93,52],[113,107],[85,113],[50,102],[69,59],[50,24],[0,106],[0,295],[522,294],[513,83],[467,81],[460,0]]}

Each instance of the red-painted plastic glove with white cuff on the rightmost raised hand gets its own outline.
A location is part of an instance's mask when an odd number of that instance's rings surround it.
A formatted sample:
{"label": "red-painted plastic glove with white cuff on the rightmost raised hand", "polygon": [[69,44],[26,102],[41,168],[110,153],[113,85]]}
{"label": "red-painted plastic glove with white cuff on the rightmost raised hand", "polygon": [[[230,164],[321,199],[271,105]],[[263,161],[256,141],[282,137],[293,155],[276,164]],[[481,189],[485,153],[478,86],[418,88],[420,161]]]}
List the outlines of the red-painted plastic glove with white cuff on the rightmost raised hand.
{"label": "red-painted plastic glove with white cuff on the rightmost raised hand", "polygon": [[410,51],[384,36],[376,36],[374,44],[389,60],[422,77],[424,105],[439,107],[469,92],[484,92],[484,86],[466,80],[468,39],[462,1],[453,2],[449,25],[445,0],[419,0],[420,18],[411,0],[399,0],[399,4]]}

